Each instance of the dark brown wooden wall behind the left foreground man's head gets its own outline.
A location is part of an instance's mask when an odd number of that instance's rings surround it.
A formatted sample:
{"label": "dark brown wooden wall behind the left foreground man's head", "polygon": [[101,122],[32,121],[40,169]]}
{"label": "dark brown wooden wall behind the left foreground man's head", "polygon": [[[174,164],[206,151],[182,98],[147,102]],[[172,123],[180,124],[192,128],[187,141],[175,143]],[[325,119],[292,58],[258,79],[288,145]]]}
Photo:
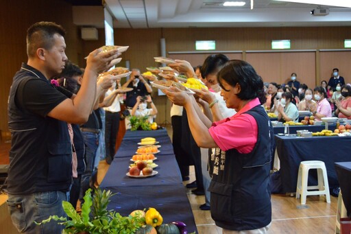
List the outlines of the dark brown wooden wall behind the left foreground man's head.
{"label": "dark brown wooden wall behind the left foreground man's head", "polygon": [[38,21],[53,21],[66,30],[66,55],[77,62],[80,39],[73,25],[72,7],[60,0],[1,1],[0,14],[0,130],[8,130],[8,94],[14,73],[27,62],[25,35]]}

